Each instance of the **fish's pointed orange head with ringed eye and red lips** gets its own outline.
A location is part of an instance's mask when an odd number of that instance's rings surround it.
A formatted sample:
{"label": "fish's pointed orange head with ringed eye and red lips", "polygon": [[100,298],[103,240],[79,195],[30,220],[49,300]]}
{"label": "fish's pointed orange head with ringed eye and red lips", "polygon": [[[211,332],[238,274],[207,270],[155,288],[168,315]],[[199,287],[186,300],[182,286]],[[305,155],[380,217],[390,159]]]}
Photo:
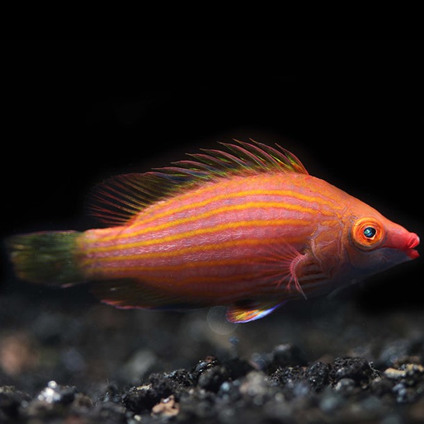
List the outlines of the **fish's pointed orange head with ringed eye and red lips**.
{"label": "fish's pointed orange head with ringed eye and red lips", "polygon": [[357,274],[368,277],[418,258],[416,247],[420,239],[417,234],[373,209],[370,212],[351,218],[346,237],[350,266],[357,270]]}

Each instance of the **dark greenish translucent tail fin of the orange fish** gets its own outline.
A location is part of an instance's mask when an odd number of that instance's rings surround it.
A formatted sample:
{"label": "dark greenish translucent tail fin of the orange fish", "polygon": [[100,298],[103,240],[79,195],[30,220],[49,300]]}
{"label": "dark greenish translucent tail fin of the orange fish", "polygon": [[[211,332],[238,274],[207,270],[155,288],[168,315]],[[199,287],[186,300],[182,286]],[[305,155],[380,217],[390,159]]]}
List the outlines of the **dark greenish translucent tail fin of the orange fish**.
{"label": "dark greenish translucent tail fin of the orange fish", "polygon": [[84,280],[77,262],[78,231],[19,234],[6,240],[17,277],[28,282],[63,286]]}

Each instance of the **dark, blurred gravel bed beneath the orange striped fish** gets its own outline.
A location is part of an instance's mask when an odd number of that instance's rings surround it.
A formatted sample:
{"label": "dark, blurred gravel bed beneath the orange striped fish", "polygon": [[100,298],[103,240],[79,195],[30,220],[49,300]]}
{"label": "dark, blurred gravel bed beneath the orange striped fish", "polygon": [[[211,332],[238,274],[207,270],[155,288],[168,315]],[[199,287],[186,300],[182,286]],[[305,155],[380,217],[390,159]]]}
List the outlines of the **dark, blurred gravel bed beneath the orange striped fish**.
{"label": "dark, blurred gravel bed beneath the orange striped fish", "polygon": [[353,290],[234,326],[220,309],[119,311],[83,288],[21,288],[0,297],[0,422],[424,421],[419,309],[372,313]]}

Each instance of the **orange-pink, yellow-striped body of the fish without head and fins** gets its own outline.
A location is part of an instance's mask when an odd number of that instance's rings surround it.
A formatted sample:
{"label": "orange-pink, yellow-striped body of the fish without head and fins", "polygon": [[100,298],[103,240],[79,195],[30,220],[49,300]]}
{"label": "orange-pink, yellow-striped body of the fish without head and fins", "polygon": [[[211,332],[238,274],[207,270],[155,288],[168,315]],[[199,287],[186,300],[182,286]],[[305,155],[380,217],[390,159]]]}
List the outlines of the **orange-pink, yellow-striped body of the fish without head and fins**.
{"label": "orange-pink, yellow-striped body of the fish without head and fins", "polygon": [[[343,195],[305,174],[233,177],[149,206],[126,227],[86,231],[79,261],[88,279],[137,279],[198,304],[284,297],[287,264],[318,222],[339,220]],[[142,301],[131,299],[149,307]]]}

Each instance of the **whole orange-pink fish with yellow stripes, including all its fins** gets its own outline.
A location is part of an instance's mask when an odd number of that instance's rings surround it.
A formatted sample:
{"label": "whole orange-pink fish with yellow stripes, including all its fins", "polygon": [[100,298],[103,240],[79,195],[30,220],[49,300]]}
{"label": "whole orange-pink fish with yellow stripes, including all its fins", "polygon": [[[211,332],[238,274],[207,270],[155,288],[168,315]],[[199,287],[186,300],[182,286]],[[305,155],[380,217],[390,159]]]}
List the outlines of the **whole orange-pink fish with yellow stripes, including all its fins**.
{"label": "whole orange-pink fish with yellow stripes, including all its fins", "polygon": [[92,190],[104,227],[6,240],[18,279],[89,283],[120,309],[227,307],[247,323],[418,258],[419,237],[277,143],[221,142]]}

